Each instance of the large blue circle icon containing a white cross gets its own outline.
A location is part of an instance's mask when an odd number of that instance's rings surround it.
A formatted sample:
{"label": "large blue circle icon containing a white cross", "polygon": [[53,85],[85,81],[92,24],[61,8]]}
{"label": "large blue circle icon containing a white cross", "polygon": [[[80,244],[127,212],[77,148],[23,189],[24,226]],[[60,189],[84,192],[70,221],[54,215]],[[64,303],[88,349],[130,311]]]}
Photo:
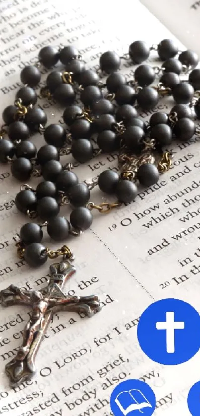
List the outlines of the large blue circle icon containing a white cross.
{"label": "large blue circle icon containing a white cross", "polygon": [[137,338],[142,351],[153,361],[181,364],[200,349],[200,315],[183,300],[158,300],[142,313]]}

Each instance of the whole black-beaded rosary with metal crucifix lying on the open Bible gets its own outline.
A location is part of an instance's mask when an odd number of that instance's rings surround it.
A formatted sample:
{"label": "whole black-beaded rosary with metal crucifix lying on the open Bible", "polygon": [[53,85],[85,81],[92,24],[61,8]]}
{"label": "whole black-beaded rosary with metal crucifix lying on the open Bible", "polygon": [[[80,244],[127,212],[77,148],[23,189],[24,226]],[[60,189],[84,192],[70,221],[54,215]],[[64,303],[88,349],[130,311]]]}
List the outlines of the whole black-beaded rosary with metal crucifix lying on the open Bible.
{"label": "whole black-beaded rosary with metal crucifix lying on the open Bible", "polygon": [[[152,50],[163,61],[161,67],[142,64]],[[138,64],[133,80],[127,81],[119,71],[123,59]],[[62,70],[58,69],[58,63]],[[43,228],[57,242],[65,242],[71,235],[78,237],[91,226],[93,209],[108,213],[130,204],[136,198],[138,183],[147,187],[158,182],[160,174],[172,165],[172,154],[163,147],[174,138],[186,142],[194,134],[200,135],[194,122],[200,120],[198,63],[195,52],[181,52],[172,40],[164,39],[151,47],[135,41],[123,57],[105,52],[100,56],[97,71],[85,69],[82,56],[72,46],[62,49],[46,46],[41,49],[36,65],[22,69],[20,78],[24,86],[16,93],[14,104],[2,113],[0,162],[10,163],[11,173],[19,181],[26,182],[31,175],[42,176],[44,180],[35,190],[23,184],[16,195],[18,210],[30,219],[39,218],[38,222],[27,222],[21,227],[17,255],[31,267],[43,265],[48,258],[63,259],[50,266],[48,285],[40,291],[11,284],[0,292],[2,306],[32,306],[22,345],[5,366],[12,386],[35,373],[36,353],[55,312],[81,311],[92,316],[101,309],[97,295],[68,296],[63,292],[68,277],[75,272],[74,256],[66,244],[58,250],[45,247],[41,243]],[[65,107],[66,128],[61,124],[45,127],[47,116],[35,106],[38,97],[34,87],[40,86],[41,72],[48,69],[51,72],[40,94]],[[106,75],[104,83],[101,78]],[[157,85],[151,85],[156,78]],[[172,96],[175,101],[170,113],[155,112],[148,123],[143,122],[137,108],[151,110],[164,96]],[[47,143],[38,150],[29,140],[34,132],[43,135]],[[71,171],[77,162],[85,163],[100,153],[114,151],[118,151],[120,173],[107,169],[89,185],[79,183]],[[60,157],[65,155],[72,155],[73,159],[62,164]],[[104,194],[114,195],[116,201],[100,205],[90,202],[90,191],[96,186]],[[60,207],[68,204],[72,206],[69,220],[59,216]]]}

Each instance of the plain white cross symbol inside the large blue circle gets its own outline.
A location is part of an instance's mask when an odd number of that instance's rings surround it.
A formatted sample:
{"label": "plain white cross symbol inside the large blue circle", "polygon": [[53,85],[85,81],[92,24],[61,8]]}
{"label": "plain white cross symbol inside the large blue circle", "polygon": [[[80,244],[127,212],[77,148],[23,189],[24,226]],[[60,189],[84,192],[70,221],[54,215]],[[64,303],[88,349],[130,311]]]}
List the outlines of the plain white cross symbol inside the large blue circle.
{"label": "plain white cross symbol inside the large blue circle", "polygon": [[175,322],[174,312],[166,312],[166,322],[156,322],[156,329],[166,330],[167,352],[175,352],[174,332],[175,329],[184,329],[185,322]]}

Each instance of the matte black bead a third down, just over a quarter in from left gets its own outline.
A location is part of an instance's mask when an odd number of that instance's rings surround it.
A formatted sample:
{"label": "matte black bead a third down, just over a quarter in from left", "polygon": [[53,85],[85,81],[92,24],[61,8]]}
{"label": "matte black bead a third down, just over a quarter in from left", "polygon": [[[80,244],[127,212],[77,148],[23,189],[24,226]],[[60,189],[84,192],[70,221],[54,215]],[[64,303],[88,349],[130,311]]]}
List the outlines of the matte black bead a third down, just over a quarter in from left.
{"label": "matte black bead a third down, just over a quarter in from left", "polygon": [[50,124],[45,129],[44,139],[48,144],[62,147],[66,141],[66,131],[61,124]]}

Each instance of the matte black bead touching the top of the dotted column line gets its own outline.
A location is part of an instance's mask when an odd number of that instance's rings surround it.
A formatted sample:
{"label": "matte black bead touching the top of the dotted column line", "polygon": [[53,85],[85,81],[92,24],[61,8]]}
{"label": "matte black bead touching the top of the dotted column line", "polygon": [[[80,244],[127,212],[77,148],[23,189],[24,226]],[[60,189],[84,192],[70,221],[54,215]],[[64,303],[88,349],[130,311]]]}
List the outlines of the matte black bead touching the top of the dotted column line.
{"label": "matte black bead touching the top of the dotted column line", "polygon": [[92,224],[93,216],[91,211],[85,207],[78,207],[70,213],[70,223],[73,228],[84,231]]}

